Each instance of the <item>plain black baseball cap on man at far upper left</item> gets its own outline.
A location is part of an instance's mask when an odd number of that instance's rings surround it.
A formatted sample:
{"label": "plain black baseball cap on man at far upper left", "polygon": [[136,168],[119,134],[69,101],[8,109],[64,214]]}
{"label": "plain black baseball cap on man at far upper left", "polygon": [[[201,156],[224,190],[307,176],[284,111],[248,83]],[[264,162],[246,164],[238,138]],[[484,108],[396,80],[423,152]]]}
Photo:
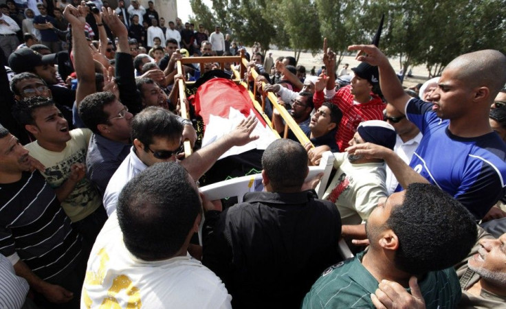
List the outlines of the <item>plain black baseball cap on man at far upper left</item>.
{"label": "plain black baseball cap on man at far upper left", "polygon": [[16,73],[32,71],[39,65],[54,65],[56,54],[42,56],[28,47],[23,47],[9,56],[9,67]]}

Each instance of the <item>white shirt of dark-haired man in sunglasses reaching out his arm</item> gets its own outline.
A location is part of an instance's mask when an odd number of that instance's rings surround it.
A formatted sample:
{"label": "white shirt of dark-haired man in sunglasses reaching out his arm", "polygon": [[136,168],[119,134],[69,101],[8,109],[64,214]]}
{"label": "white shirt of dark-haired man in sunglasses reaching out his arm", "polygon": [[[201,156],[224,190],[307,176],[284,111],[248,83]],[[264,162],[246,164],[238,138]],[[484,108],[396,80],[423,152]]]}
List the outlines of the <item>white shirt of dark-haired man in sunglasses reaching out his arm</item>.
{"label": "white shirt of dark-haired man in sunglasses reaching out his arm", "polygon": [[105,211],[107,211],[107,216],[111,216],[111,214],[116,210],[118,197],[120,196],[124,185],[126,185],[130,179],[133,179],[133,176],[148,168],[148,166],[142,163],[139,157],[135,155],[135,152],[133,151],[134,149],[135,148],[132,146],[130,154],[123,160],[105,189],[103,203]]}

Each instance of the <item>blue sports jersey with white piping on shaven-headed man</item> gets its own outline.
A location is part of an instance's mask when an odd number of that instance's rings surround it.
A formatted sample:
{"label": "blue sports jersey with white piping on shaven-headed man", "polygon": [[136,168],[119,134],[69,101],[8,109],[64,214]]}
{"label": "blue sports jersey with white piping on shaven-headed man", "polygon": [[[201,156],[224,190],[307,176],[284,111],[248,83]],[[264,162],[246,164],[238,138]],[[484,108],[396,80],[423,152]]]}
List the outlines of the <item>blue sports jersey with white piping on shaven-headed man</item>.
{"label": "blue sports jersey with white piping on shaven-headed man", "polygon": [[412,98],[406,117],[423,134],[410,167],[460,201],[481,219],[505,193],[506,145],[495,133],[464,138],[450,121],[432,112],[432,103]]}

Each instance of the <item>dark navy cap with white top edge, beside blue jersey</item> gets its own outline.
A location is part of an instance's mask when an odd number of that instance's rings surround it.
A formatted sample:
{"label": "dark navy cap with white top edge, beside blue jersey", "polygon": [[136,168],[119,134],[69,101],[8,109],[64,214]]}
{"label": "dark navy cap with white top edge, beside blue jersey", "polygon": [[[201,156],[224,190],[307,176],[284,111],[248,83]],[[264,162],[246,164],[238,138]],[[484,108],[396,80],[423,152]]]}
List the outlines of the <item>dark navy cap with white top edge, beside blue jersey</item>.
{"label": "dark navy cap with white top edge, beside blue jersey", "polygon": [[358,125],[357,132],[364,141],[392,149],[397,133],[395,128],[382,120],[369,120]]}

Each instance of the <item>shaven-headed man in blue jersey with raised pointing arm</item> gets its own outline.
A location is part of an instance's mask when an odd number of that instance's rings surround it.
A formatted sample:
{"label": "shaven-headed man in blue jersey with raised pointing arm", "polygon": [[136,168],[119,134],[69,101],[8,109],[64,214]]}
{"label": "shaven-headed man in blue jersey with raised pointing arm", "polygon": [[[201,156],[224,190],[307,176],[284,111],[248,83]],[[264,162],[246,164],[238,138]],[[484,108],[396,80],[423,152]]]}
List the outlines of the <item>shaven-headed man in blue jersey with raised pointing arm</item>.
{"label": "shaven-headed man in blue jersey with raised pointing arm", "polygon": [[[404,93],[388,59],[373,45],[352,45],[377,65],[388,101],[423,134],[410,168],[393,152],[360,144],[349,152],[385,159],[402,187],[428,181],[448,192],[481,219],[504,195],[506,145],[490,128],[489,108],[506,82],[506,56],[488,49],[464,54],[444,69],[433,102]],[[415,172],[413,172],[413,170]]]}

